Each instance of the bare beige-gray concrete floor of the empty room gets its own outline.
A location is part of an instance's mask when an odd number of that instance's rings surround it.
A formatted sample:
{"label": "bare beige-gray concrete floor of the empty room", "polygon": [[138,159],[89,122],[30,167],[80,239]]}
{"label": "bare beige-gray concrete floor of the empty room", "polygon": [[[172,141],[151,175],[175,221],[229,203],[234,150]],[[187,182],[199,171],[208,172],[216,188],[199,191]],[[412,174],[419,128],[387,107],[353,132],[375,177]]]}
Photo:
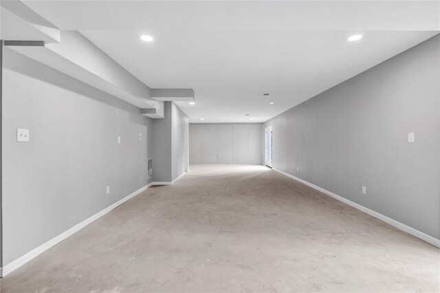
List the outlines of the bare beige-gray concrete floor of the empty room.
{"label": "bare beige-gray concrete floor of the empty room", "polygon": [[192,166],[1,292],[439,292],[440,250],[261,166]]}

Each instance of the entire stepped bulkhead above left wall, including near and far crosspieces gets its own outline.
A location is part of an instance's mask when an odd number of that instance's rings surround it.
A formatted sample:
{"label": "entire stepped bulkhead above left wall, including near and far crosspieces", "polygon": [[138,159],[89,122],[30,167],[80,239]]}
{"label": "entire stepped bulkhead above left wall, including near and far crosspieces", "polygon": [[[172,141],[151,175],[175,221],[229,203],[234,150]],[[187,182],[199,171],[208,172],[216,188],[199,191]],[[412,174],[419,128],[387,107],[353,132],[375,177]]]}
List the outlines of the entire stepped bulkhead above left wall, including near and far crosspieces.
{"label": "entire stepped bulkhead above left wall, including near and far crosspieces", "polygon": [[59,30],[21,1],[1,2],[4,45],[164,118],[164,101],[194,100],[193,89],[151,89],[76,30]]}

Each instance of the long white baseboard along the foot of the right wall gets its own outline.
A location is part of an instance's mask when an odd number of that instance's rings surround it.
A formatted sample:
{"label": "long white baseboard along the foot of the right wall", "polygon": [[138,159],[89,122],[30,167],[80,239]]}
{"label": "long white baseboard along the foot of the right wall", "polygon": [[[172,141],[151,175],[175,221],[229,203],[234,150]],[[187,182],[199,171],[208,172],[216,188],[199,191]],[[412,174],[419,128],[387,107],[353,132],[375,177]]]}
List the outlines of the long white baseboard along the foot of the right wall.
{"label": "long white baseboard along the foot of the right wall", "polygon": [[402,224],[399,221],[396,221],[395,219],[391,219],[389,217],[386,217],[380,213],[375,212],[374,210],[370,210],[369,208],[361,206],[360,204],[356,204],[355,202],[351,202],[351,200],[349,200],[349,199],[346,199],[340,195],[336,195],[335,193],[332,193],[331,191],[327,191],[324,188],[316,186],[315,184],[311,184],[310,182],[307,182],[307,181],[302,180],[298,177],[295,177],[294,175],[290,175],[289,173],[285,173],[285,172],[283,172],[281,170],[277,170],[277,169],[274,169],[274,171],[281,173],[283,175],[286,175],[287,177],[291,177],[292,179],[294,179],[296,181],[304,183],[304,184],[310,186],[311,188],[316,189],[317,191],[320,191],[322,193],[330,195],[331,197],[338,199],[340,202],[343,202],[344,204],[348,204],[349,206],[353,206],[353,208],[357,208],[358,210],[362,210],[362,212],[364,212],[366,214],[369,214],[377,219],[380,219],[380,220],[384,221],[385,223],[390,224],[391,226],[394,226],[395,228],[398,228],[404,232],[409,233],[410,235],[413,235],[423,241],[426,241],[426,242],[432,244],[433,246],[437,246],[438,248],[440,248],[440,239],[434,238],[430,235],[427,235],[423,232],[420,232],[419,230],[416,230],[415,228],[411,228],[410,226],[406,226],[405,224]]}

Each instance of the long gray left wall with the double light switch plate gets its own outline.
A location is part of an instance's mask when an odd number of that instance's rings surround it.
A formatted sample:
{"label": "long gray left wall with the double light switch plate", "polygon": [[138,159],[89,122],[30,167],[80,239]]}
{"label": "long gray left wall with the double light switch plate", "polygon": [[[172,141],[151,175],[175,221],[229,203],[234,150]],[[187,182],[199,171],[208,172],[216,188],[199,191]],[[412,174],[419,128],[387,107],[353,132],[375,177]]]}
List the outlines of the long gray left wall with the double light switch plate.
{"label": "long gray left wall with the double light switch plate", "polygon": [[[118,98],[3,53],[6,265],[148,184],[152,122]],[[30,142],[16,141],[17,128],[30,129]]]}

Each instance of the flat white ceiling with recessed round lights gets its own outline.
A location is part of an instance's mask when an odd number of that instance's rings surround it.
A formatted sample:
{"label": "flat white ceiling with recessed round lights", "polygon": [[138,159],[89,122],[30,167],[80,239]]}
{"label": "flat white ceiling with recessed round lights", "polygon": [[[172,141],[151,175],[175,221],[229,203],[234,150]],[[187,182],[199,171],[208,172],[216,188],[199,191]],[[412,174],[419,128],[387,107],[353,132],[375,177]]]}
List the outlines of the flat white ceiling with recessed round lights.
{"label": "flat white ceiling with recessed round lights", "polygon": [[25,3],[149,87],[195,89],[190,122],[263,122],[440,30],[439,1]]}

